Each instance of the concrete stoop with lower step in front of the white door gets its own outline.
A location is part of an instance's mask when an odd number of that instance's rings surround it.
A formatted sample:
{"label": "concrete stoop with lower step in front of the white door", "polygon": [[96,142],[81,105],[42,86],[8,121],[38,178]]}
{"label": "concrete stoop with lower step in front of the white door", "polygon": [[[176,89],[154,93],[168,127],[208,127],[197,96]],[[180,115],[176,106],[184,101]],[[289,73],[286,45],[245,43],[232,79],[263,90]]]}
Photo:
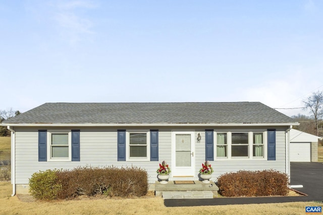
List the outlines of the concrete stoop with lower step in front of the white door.
{"label": "concrete stoop with lower step in front of the white door", "polygon": [[155,182],[155,195],[167,198],[213,198],[218,195],[218,186],[210,181],[209,184],[194,181],[195,184],[175,184],[169,181],[167,184]]}

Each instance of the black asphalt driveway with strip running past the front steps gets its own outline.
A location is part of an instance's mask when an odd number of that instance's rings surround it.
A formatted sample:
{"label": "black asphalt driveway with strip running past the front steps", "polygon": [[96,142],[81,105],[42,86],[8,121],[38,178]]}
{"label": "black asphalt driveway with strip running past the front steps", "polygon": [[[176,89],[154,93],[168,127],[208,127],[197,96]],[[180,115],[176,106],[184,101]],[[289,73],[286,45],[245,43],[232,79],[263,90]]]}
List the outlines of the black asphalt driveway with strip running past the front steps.
{"label": "black asphalt driveway with strip running past the front steps", "polygon": [[323,202],[323,163],[291,162],[291,185],[303,185],[303,188],[294,189],[307,194],[307,196],[165,199],[164,204],[168,207],[175,207],[200,205],[282,203],[296,201]]}

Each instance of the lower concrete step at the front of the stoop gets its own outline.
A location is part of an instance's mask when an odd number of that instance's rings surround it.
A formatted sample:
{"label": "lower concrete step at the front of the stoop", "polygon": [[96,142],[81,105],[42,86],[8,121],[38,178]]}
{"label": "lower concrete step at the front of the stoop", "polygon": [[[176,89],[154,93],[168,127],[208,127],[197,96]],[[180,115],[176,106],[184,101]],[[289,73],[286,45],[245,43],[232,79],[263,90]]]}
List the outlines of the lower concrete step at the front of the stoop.
{"label": "lower concrete step at the front of the stoop", "polygon": [[163,198],[213,198],[212,191],[163,191]]}

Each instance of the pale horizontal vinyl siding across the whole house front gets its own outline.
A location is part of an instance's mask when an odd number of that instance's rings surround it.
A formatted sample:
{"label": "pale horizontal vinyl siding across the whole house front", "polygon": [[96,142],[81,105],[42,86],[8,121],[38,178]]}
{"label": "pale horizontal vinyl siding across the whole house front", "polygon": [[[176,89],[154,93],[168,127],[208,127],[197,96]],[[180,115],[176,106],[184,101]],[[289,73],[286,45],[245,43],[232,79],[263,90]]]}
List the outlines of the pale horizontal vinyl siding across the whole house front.
{"label": "pale horizontal vinyl siding across the whole house front", "polygon": [[[73,169],[79,166],[92,166],[92,167],[131,167],[137,166],[145,169],[148,173],[149,183],[154,183],[156,178],[156,169],[158,164],[166,161],[172,164],[172,127],[156,128],[158,129],[158,157],[159,161],[117,161],[117,129],[109,127],[60,127],[59,130],[80,129],[80,162],[38,162],[38,130],[55,130],[53,127],[32,127],[23,128],[16,127],[16,183],[28,184],[29,178],[39,170],[47,169]],[[126,127],[123,129],[142,129],[140,127]],[[147,128],[150,129],[150,128]],[[209,129],[209,128],[207,128]],[[234,130],[234,128],[229,128]],[[264,130],[266,128],[260,129]],[[210,161],[214,169],[212,180],[224,173],[235,172],[241,169],[244,170],[263,170],[275,169],[285,172],[285,130],[287,128],[277,128],[276,132],[276,161],[266,161],[262,158],[235,160],[235,159],[216,159]],[[194,128],[192,128],[194,130]],[[214,129],[216,130],[216,129]],[[219,130],[219,129],[218,129]],[[240,131],[241,129],[237,129]],[[248,131],[257,132],[259,129],[250,128]],[[205,129],[195,129],[195,174],[194,179],[198,180],[198,171],[201,164],[205,162]],[[197,133],[201,134],[201,141],[196,142]],[[215,133],[214,133],[215,135]],[[216,144],[214,143],[214,148]],[[48,155],[47,155],[48,158]],[[172,166],[170,166],[172,168]],[[172,173],[171,173],[172,177]],[[173,180],[171,178],[171,180]],[[183,180],[183,179],[182,179]]]}

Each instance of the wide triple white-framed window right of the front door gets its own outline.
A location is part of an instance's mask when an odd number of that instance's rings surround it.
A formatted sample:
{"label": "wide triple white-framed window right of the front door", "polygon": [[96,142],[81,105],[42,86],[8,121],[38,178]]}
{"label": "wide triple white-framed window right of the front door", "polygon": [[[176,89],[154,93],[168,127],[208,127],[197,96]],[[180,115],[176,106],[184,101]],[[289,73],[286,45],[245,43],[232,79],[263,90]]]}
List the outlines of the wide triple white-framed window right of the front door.
{"label": "wide triple white-framed window right of the front door", "polygon": [[216,131],[216,159],[266,159],[265,131]]}

